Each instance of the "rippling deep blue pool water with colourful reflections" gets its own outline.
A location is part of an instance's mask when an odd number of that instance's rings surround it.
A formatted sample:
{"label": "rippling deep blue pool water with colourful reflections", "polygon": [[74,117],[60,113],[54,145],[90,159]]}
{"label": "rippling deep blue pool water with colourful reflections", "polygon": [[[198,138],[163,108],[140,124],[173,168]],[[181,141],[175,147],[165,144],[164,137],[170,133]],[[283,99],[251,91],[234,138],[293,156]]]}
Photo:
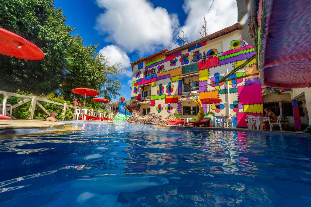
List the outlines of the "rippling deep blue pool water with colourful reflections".
{"label": "rippling deep blue pool water with colourful reflections", "polygon": [[0,140],[0,206],[310,206],[311,139],[76,124]]}

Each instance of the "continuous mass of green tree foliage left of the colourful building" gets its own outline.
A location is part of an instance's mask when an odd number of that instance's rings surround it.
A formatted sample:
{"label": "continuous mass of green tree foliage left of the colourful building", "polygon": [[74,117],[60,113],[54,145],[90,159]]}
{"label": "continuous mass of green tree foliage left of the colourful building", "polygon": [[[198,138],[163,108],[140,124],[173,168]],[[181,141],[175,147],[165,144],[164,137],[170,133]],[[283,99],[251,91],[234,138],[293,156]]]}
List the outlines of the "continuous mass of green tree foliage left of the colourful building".
{"label": "continuous mass of green tree foliage left of the colourful building", "polygon": [[[39,61],[0,55],[1,90],[21,89],[37,95],[56,90],[66,101],[83,100],[71,92],[80,87],[98,90],[107,99],[120,95],[121,64],[108,66],[107,59],[95,51],[98,45],[84,46],[82,38],[70,34],[74,29],[65,21],[53,0],[0,0],[0,27],[34,43],[45,54]],[[98,108],[91,98],[88,105]]]}

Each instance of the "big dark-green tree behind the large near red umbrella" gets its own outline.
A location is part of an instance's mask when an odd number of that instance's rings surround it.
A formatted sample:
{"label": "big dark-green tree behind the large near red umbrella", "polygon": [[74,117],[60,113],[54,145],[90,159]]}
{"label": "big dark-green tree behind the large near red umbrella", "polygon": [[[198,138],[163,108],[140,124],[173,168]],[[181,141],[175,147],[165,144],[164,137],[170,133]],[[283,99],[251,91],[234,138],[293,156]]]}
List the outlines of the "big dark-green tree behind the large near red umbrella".
{"label": "big dark-green tree behind the large near red umbrella", "polygon": [[0,89],[47,94],[61,86],[66,52],[74,39],[65,21],[53,0],[0,0],[0,26],[36,44],[45,54],[39,61],[0,55]]}

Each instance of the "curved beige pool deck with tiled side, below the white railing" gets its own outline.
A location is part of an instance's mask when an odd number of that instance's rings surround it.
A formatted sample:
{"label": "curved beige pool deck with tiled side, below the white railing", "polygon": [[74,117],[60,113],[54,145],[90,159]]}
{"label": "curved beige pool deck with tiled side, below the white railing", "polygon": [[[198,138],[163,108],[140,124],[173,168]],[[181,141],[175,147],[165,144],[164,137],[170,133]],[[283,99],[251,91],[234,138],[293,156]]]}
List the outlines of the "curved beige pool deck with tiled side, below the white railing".
{"label": "curved beige pool deck with tiled side, below the white railing", "polygon": [[24,135],[30,133],[41,133],[63,129],[61,122],[48,122],[43,120],[2,120],[0,121],[0,136],[7,134]]}

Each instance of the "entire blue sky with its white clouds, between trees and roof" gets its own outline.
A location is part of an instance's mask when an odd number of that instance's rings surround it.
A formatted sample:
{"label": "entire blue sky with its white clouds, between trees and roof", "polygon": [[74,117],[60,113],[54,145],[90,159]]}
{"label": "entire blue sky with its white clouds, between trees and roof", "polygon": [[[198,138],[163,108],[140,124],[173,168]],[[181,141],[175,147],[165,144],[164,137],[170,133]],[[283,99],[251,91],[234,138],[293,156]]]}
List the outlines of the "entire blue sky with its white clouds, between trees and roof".
{"label": "entire blue sky with its white clouds, between trees and roof", "polygon": [[[237,21],[235,0],[55,0],[66,24],[84,44],[99,44],[97,52],[111,64],[121,62],[120,93],[130,99],[131,66],[141,57],[167,47],[183,29],[188,42],[200,38],[204,17],[209,34]],[[181,45],[180,41],[177,42]]]}

